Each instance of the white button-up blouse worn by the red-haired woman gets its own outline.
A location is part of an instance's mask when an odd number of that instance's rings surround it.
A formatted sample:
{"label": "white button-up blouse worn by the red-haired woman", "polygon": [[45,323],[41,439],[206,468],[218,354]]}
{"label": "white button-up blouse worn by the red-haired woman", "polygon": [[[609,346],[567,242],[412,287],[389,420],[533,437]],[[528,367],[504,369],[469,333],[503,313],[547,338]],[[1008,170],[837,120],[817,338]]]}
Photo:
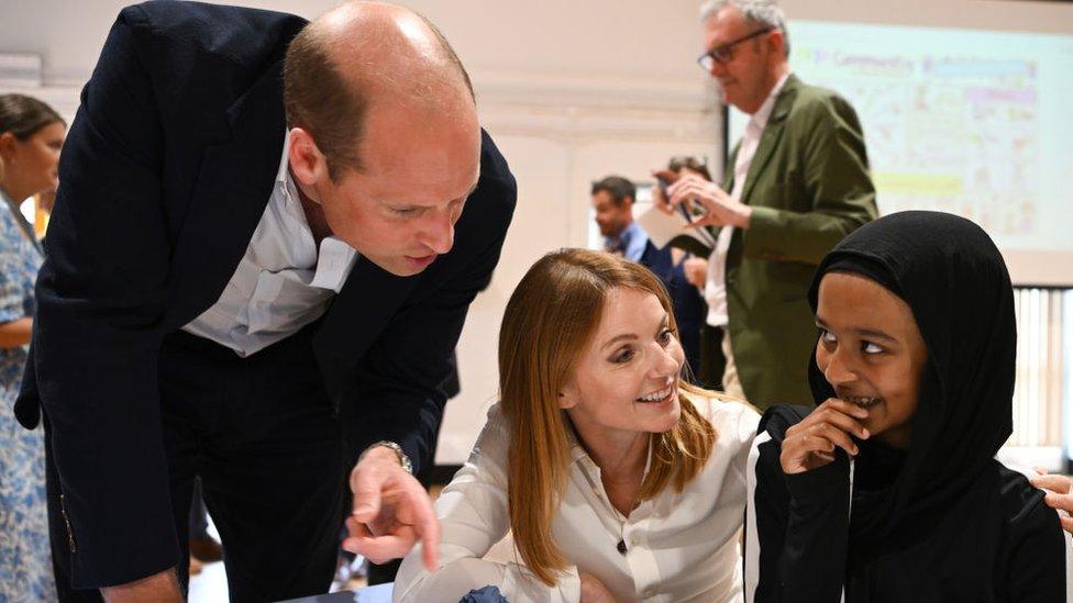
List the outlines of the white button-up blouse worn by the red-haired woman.
{"label": "white button-up blouse worn by the red-haired woman", "polygon": [[[552,536],[573,563],[547,587],[512,551],[515,562],[483,557],[510,528],[507,449],[510,433],[499,405],[488,411],[466,465],[436,501],[440,568],[429,572],[421,547],[403,560],[395,601],[456,603],[472,589],[498,587],[511,603],[578,601],[578,572],[598,578],[617,601],[741,601],[739,533],[745,509],[745,462],[759,415],[752,409],[703,400],[716,444],[704,470],[677,493],[673,487],[622,516],[608,501],[600,469],[579,444]],[[627,551],[619,552],[618,544]]]}

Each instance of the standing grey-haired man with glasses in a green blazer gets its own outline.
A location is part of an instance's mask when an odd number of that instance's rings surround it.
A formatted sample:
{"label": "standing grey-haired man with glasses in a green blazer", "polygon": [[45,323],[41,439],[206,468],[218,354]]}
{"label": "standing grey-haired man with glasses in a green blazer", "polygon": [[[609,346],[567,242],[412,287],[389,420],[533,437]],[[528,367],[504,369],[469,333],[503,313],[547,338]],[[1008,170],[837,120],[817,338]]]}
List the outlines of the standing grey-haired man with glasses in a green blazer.
{"label": "standing grey-haired man with glasses in a green blazer", "polygon": [[716,236],[705,298],[708,324],[724,330],[726,390],[761,409],[810,404],[812,272],[877,213],[861,124],[844,99],[790,74],[777,4],[716,0],[703,19],[707,52],[698,63],[724,101],[751,118],[721,187],[685,176],[656,201],[703,206],[696,224]]}

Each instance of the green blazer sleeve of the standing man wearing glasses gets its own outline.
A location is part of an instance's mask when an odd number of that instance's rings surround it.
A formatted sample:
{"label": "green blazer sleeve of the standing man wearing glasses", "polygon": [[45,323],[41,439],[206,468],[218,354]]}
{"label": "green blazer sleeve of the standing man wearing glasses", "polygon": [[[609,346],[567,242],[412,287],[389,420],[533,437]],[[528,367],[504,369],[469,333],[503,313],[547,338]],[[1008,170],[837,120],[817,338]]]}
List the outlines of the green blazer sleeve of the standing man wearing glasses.
{"label": "green blazer sleeve of the standing man wearing glasses", "polygon": [[787,122],[784,134],[799,138],[795,150],[801,154],[804,190],[784,193],[804,196],[809,210],[753,206],[743,235],[749,257],[819,264],[845,235],[876,217],[864,134],[853,108],[830,97],[801,111],[787,119],[804,127]]}

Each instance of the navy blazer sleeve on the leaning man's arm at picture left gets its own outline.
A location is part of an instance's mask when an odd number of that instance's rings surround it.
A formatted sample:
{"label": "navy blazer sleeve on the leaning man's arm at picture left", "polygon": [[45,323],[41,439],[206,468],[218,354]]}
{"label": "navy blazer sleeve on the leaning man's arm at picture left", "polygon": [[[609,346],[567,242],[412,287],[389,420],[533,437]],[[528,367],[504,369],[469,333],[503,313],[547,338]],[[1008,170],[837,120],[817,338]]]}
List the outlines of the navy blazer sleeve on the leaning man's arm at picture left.
{"label": "navy blazer sleeve on the leaning man's arm at picture left", "polygon": [[36,284],[36,382],[24,388],[51,427],[76,589],[179,561],[156,372],[170,256],[163,134],[140,14],[113,25],[64,146]]}

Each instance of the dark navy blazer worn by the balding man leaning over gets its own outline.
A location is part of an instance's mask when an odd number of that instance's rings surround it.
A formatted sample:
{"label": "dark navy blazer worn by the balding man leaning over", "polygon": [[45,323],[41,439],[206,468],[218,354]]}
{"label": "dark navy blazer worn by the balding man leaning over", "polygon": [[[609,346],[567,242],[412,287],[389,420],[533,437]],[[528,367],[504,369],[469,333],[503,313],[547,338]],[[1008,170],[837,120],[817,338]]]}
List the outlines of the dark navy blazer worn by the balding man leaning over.
{"label": "dark navy blazer worn by the balding man leaning over", "polygon": [[[82,90],[16,405],[24,425],[43,409],[51,426],[75,588],[180,561],[158,353],[219,299],[261,220],[287,125],[283,58],[305,25],[193,2],[129,7]],[[313,348],[335,403],[359,409],[356,443],[398,442],[418,468],[431,459],[451,353],[499,259],[516,196],[483,134],[480,181],[454,248],[410,278],[355,265]]]}

